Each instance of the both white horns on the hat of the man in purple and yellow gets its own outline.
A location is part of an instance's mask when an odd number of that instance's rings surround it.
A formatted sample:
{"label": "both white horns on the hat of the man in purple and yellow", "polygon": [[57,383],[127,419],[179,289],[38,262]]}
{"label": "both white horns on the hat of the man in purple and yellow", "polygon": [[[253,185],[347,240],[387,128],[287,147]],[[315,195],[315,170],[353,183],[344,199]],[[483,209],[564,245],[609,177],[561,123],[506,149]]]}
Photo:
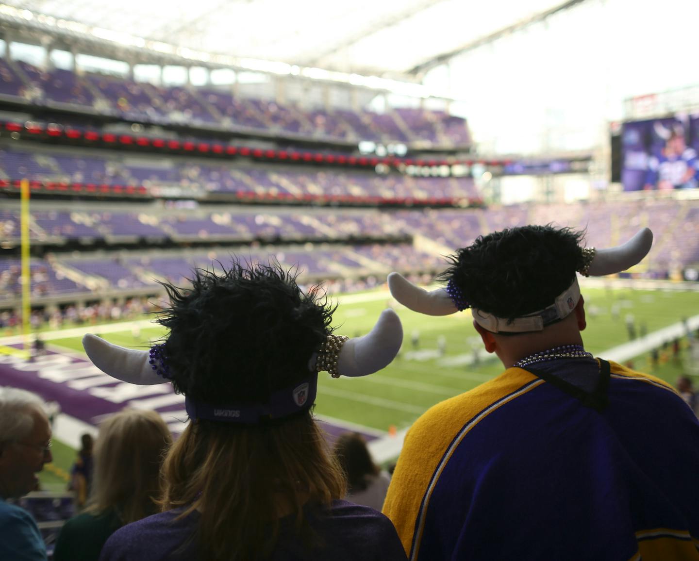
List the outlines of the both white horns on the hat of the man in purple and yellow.
{"label": "both white horns on the hat of the man in purple and yellow", "polygon": [[[625,271],[639,263],[651,249],[653,233],[649,228],[642,228],[633,238],[623,245],[608,249],[596,249],[586,273],[593,277],[603,277]],[[584,250],[590,251],[590,250]],[[414,312],[428,316],[447,316],[459,311],[459,308],[447,289],[426,291],[415,286],[397,272],[388,277],[391,296]]]}

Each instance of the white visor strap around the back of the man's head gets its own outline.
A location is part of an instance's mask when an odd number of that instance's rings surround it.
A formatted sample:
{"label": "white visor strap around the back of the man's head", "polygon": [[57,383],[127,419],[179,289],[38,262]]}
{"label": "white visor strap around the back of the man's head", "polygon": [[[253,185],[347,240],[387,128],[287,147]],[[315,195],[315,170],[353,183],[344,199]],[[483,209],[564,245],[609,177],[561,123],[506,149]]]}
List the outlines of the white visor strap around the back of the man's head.
{"label": "white visor strap around the back of the man's head", "polygon": [[568,316],[575,309],[579,300],[580,285],[577,284],[577,277],[575,277],[572,284],[556,297],[552,305],[540,309],[538,312],[515,318],[512,321],[493,316],[493,314],[488,314],[477,308],[471,308],[471,314],[478,325],[492,333],[541,331],[551,323]]}

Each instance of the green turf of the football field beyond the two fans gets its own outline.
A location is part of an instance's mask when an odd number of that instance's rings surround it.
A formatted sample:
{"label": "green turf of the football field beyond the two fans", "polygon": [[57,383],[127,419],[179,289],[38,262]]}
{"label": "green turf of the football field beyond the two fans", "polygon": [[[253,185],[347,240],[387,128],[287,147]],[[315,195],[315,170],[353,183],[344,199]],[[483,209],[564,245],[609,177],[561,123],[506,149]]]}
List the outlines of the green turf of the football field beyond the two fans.
{"label": "green turf of the football field beyond the two fans", "polygon": [[[696,292],[584,287],[583,291],[588,316],[584,340],[586,348],[599,356],[604,356],[607,349],[628,342],[627,314],[633,314],[637,327],[644,324],[648,333],[699,314],[699,293]],[[396,305],[386,291],[351,294],[333,300],[340,304],[334,316],[338,335],[353,337],[367,333],[382,309],[394,305],[403,323],[404,341],[396,360],[370,377],[331,379],[322,373],[315,409],[317,414],[381,431],[391,427],[400,430],[431,405],[467,391],[502,371],[498,360],[482,351],[469,312],[442,317],[423,316]],[[85,333],[89,330],[90,327],[85,327]],[[140,328],[138,337],[130,327],[105,333],[103,337],[125,347],[147,348],[150,347],[149,341],[162,335],[164,332],[159,326],[146,326]],[[414,337],[417,338],[415,344]],[[80,337],[55,334],[46,340],[52,346],[82,352]],[[686,368],[689,351],[684,343],[679,358],[673,357],[671,347],[668,347],[661,351],[657,364],[651,364],[648,353],[644,352],[633,359],[634,366],[674,383]],[[474,363],[477,353],[477,362]],[[61,452],[55,460],[56,467],[69,469],[74,453],[61,444],[57,446]],[[44,472],[44,476],[47,487],[64,485],[59,474]]]}

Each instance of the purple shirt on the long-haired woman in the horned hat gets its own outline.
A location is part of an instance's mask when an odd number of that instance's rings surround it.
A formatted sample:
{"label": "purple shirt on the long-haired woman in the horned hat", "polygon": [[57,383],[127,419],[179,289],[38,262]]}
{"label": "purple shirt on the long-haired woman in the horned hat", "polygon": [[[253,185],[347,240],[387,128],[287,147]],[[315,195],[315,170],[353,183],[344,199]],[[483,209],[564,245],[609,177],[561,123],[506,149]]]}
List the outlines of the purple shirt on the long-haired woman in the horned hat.
{"label": "purple shirt on the long-haired woman in the horned hat", "polygon": [[[196,544],[176,552],[196,531],[199,515],[175,520],[179,510],[138,520],[117,530],[102,549],[100,561],[196,561]],[[309,516],[325,541],[321,551],[306,553],[291,531],[291,517],[280,521],[280,539],[271,561],[405,561],[405,551],[391,521],[382,513],[347,501],[334,501],[329,513]]]}

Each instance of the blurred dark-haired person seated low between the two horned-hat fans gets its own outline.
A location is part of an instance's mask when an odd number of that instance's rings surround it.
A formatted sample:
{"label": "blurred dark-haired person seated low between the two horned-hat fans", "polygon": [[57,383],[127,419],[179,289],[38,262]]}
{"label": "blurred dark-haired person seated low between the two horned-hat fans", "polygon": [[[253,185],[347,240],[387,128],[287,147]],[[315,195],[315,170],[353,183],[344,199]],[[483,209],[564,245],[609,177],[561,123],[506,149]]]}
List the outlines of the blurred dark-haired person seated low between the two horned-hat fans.
{"label": "blurred dark-haired person seated low between the two horned-hat fans", "polygon": [[348,501],[381,510],[391,478],[371,459],[359,432],[345,432],[335,443],[335,457],[347,478]]}

